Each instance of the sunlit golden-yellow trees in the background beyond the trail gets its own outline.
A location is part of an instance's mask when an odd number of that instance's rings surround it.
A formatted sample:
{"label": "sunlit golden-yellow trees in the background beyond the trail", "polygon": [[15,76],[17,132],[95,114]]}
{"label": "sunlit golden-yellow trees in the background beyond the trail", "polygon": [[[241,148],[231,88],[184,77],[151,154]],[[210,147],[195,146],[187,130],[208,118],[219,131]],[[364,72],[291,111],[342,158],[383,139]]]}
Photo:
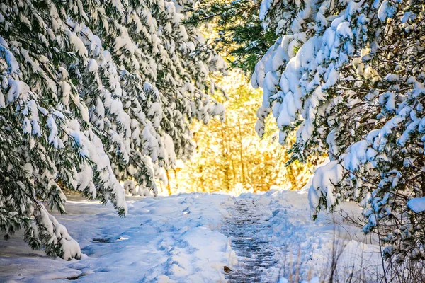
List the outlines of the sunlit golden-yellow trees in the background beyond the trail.
{"label": "sunlit golden-yellow trees in the background beyond the trail", "polygon": [[226,120],[213,119],[208,125],[193,123],[196,153],[169,172],[170,191],[238,194],[303,187],[312,173],[312,162],[317,161],[310,158],[310,163],[296,161],[285,166],[289,144],[283,147],[276,142],[276,126],[272,123],[268,123],[263,138],[258,137],[254,125],[261,91],[249,87],[240,69],[232,69],[216,81],[229,98],[222,102]]}

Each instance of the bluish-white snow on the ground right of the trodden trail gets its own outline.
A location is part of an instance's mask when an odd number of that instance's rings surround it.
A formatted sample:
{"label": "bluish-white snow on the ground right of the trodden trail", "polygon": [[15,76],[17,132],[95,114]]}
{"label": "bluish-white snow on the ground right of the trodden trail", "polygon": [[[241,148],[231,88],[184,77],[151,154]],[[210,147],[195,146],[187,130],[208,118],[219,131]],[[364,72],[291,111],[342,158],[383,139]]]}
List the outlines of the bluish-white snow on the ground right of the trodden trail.
{"label": "bluish-white snow on the ground right of the trodden trail", "polygon": [[[341,214],[320,213],[317,221],[310,219],[307,191],[269,191],[263,195],[244,194],[263,216],[263,229],[256,231],[259,240],[268,241],[278,254],[280,279],[289,282],[312,280],[329,282],[332,258],[336,260],[335,282],[378,282],[381,274],[379,247],[376,238],[365,237],[358,227],[345,224]],[[353,202],[341,205],[343,214],[359,216],[361,209]],[[333,255],[334,251],[334,255]],[[274,276],[273,273],[270,274]],[[276,282],[274,277],[264,282]],[[317,281],[319,279],[319,281]]]}

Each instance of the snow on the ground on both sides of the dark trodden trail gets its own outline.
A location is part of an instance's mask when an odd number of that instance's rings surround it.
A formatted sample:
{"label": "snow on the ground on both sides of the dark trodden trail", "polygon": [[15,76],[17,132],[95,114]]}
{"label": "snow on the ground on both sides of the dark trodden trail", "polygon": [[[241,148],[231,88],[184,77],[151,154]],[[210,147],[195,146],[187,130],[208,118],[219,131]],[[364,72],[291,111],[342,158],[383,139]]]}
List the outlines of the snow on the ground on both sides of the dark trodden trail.
{"label": "snow on the ground on both sides of the dark trodden trail", "polygon": [[[353,274],[373,281],[379,274],[379,248],[370,244],[371,239],[364,238],[360,229],[341,224],[336,216],[322,213],[318,221],[310,220],[304,192],[133,197],[128,200],[129,214],[122,219],[109,204],[71,199],[68,214],[57,219],[80,243],[83,258],[68,262],[47,257],[28,248],[18,233],[9,241],[0,240],[0,282],[67,278],[77,282],[225,282],[223,266],[237,269],[238,257],[220,231],[228,225],[234,202],[240,200],[255,204],[249,213],[259,223],[252,233],[249,227],[246,231],[272,247],[279,258],[280,277],[329,275],[332,250],[341,254],[337,276]],[[344,204],[344,209],[355,215],[360,212],[356,204]],[[277,280],[267,272],[262,279]]]}

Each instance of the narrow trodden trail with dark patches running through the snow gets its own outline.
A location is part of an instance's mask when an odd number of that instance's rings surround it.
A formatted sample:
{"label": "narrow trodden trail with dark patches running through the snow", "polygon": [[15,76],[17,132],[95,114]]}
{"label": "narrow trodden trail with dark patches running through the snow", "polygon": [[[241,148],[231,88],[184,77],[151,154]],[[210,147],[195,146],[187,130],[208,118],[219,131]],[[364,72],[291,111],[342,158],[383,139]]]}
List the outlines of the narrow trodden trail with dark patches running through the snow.
{"label": "narrow trodden trail with dark patches running through the snow", "polygon": [[261,204],[251,198],[237,199],[227,207],[231,216],[222,226],[222,233],[231,240],[238,264],[226,275],[228,282],[278,282],[278,258],[271,243],[259,238],[257,232],[269,229],[269,215]]}

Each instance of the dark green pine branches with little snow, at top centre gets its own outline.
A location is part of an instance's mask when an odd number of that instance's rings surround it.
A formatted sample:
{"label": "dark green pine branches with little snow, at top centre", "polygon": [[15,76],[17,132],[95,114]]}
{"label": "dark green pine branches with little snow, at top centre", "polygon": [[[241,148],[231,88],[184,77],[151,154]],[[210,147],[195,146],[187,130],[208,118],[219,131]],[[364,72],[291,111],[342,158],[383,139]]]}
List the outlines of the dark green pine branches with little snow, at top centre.
{"label": "dark green pine branches with little snow, at top centre", "polygon": [[188,25],[212,23],[218,36],[211,42],[217,52],[229,55],[230,67],[252,74],[257,62],[276,40],[273,27],[263,29],[259,19],[260,1],[208,0],[187,8]]}

